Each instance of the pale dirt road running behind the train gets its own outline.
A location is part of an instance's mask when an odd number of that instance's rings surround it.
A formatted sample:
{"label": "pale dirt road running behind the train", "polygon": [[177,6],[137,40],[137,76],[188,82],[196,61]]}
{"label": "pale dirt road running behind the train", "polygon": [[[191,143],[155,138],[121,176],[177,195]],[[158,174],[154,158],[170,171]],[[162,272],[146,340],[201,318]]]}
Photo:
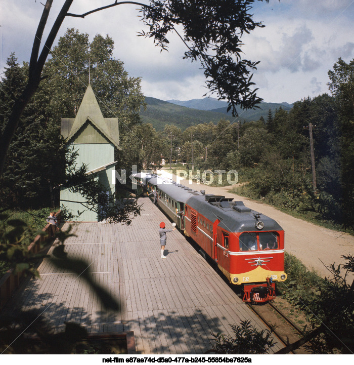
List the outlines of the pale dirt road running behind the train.
{"label": "pale dirt road running behind the train", "polygon": [[[173,176],[176,180],[175,175]],[[206,193],[226,195],[234,200],[243,200],[245,206],[275,219],[285,231],[285,251],[295,255],[307,268],[313,268],[321,276],[329,272],[324,264],[344,263],[341,255],[354,255],[354,236],[324,228],[298,218],[294,218],[278,209],[249,198],[228,192],[231,186],[210,187],[204,184],[181,180],[181,184],[191,186],[195,190],[205,190]],[[322,261],[322,262],[321,262]],[[349,283],[354,275],[348,277]]]}

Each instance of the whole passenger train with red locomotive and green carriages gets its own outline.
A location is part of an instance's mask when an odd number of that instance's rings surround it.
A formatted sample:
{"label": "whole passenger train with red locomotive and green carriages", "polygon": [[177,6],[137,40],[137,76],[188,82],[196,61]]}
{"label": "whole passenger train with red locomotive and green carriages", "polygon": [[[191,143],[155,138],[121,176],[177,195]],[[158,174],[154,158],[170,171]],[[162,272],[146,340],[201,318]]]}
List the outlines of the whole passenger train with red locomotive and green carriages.
{"label": "whole passenger train with red locomotive and green carriages", "polygon": [[190,236],[245,302],[273,300],[275,282],[285,281],[284,230],[274,220],[224,195],[205,194],[154,175],[132,175],[138,194],[157,193],[159,208]]}

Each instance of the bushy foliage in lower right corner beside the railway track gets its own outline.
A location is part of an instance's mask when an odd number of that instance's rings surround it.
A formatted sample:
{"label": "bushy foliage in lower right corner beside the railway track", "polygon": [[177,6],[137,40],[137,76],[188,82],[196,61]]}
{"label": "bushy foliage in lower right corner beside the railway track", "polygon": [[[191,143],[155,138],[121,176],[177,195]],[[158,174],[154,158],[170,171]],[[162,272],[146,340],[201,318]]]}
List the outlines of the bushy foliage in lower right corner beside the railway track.
{"label": "bushy foliage in lower right corner beside the railway track", "polygon": [[288,255],[285,264],[289,265],[289,259],[293,264],[292,280],[288,283],[292,289],[291,300],[306,313],[312,328],[306,328],[300,340],[279,350],[278,354],[289,353],[304,344],[317,354],[353,353],[354,281],[350,285],[349,277],[352,280],[354,257],[343,255],[342,258],[346,260],[343,266],[326,266],[329,274],[323,279]]}

